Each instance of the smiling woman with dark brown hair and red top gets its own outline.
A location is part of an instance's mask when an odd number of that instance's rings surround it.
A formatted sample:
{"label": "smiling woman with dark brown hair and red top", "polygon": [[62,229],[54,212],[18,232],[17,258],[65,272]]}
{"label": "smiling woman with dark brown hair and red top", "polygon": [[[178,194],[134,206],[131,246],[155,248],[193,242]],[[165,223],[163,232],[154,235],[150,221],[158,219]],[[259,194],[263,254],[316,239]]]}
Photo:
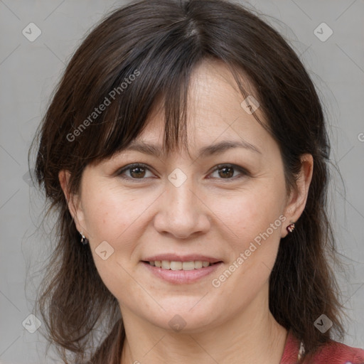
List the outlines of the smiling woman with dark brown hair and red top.
{"label": "smiling woman with dark brown hair and red top", "polygon": [[250,11],[117,9],[73,55],[39,137],[59,218],[38,309],[65,363],[364,363],[333,341],[319,98]]}

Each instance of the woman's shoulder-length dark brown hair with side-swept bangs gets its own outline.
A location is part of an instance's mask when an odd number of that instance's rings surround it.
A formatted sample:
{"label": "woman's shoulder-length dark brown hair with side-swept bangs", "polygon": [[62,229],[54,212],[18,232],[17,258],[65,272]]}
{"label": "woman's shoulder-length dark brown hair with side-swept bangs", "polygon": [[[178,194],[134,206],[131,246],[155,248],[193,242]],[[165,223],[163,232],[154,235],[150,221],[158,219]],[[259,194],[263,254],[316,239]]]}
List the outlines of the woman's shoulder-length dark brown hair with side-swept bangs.
{"label": "woman's shoulder-length dark brown hair with side-swept bangs", "polygon": [[[124,149],[160,101],[167,151],[186,141],[189,77],[207,58],[227,65],[243,98],[254,93],[259,100],[265,127],[282,153],[287,188],[295,187],[300,156],[314,157],[306,207],[294,233],[281,240],[270,275],[269,309],[308,352],[333,333],[343,336],[338,287],[328,262],[336,251],[326,215],[330,146],[323,109],[304,66],[277,31],[239,4],[142,0],[113,11],[85,38],[38,131],[36,177],[50,210],[58,213],[58,237],[37,307],[49,341],[66,363],[68,354],[74,363],[90,357],[92,363],[119,363],[125,333],[117,300],[100,279],[90,246],[80,244],[58,173],[70,171],[70,192],[76,193],[85,166]],[[255,90],[247,92],[242,75]],[[95,112],[102,104],[109,105]],[[326,333],[314,326],[321,314],[333,321]]]}

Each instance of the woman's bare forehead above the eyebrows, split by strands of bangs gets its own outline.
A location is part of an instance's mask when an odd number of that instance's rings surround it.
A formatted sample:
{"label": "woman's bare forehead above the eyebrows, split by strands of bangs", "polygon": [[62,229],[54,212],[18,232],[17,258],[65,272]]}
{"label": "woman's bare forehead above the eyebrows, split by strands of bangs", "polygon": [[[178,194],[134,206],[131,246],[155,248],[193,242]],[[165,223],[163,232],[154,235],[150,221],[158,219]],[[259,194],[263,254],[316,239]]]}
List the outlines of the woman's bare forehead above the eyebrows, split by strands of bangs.
{"label": "woman's bare forehead above the eyebrows, split by strands of bangs", "polygon": [[[193,150],[195,154],[198,149],[200,154],[208,155],[227,149],[229,143],[240,144],[251,151],[264,151],[267,141],[272,137],[242,107],[243,100],[234,77],[224,63],[218,60],[200,63],[191,74],[188,89],[185,144],[188,151]],[[159,103],[151,112],[144,131],[132,141],[129,149],[144,149],[158,156],[164,154],[165,117],[161,105]],[[147,144],[153,144],[154,147]],[[214,146],[210,149],[201,148],[212,144]],[[216,144],[220,144],[218,148]]]}

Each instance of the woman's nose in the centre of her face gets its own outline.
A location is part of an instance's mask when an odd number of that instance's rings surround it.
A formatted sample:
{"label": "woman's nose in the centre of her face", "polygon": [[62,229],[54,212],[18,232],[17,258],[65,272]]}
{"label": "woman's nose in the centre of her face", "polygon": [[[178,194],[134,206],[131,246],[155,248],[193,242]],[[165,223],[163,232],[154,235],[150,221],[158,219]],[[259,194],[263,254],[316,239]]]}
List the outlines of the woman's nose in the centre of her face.
{"label": "woman's nose in the centre of her face", "polygon": [[210,229],[210,209],[192,180],[190,176],[178,187],[167,181],[154,218],[154,228],[161,234],[187,239]]}

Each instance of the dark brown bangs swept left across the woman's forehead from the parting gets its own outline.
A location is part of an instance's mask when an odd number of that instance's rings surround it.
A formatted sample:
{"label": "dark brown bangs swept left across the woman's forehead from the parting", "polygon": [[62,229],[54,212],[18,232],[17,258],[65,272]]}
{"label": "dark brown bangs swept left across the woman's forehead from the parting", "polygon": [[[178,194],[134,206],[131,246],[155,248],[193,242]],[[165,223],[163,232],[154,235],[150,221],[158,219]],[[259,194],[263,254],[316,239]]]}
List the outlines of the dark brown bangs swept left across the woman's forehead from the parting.
{"label": "dark brown bangs swept left across the woman's forehead from the parting", "polygon": [[[97,164],[127,148],[144,130],[151,114],[159,109],[164,110],[165,152],[168,154],[181,144],[187,146],[189,80],[193,68],[206,55],[199,51],[198,33],[191,24],[188,28],[180,24],[166,32],[164,41],[151,44],[136,58],[128,59],[127,67],[119,63],[118,76],[102,85],[102,92],[100,87],[93,92],[99,95],[94,104],[104,103],[107,107],[99,118],[92,111],[94,105],[88,107],[88,115],[93,114],[95,122],[83,133],[84,141],[80,139],[87,164]],[[86,114],[79,117],[77,128],[82,124],[80,120],[90,119]]]}

